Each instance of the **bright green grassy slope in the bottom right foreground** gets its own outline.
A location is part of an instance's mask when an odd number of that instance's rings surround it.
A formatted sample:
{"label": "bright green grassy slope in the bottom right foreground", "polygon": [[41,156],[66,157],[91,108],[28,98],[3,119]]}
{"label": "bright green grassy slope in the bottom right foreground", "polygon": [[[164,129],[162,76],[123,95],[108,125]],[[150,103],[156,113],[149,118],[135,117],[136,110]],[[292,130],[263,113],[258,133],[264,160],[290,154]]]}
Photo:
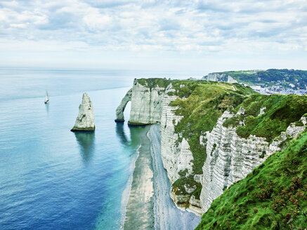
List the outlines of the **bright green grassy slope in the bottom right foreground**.
{"label": "bright green grassy slope in the bottom right foreground", "polygon": [[216,198],[196,229],[306,229],[307,132]]}

